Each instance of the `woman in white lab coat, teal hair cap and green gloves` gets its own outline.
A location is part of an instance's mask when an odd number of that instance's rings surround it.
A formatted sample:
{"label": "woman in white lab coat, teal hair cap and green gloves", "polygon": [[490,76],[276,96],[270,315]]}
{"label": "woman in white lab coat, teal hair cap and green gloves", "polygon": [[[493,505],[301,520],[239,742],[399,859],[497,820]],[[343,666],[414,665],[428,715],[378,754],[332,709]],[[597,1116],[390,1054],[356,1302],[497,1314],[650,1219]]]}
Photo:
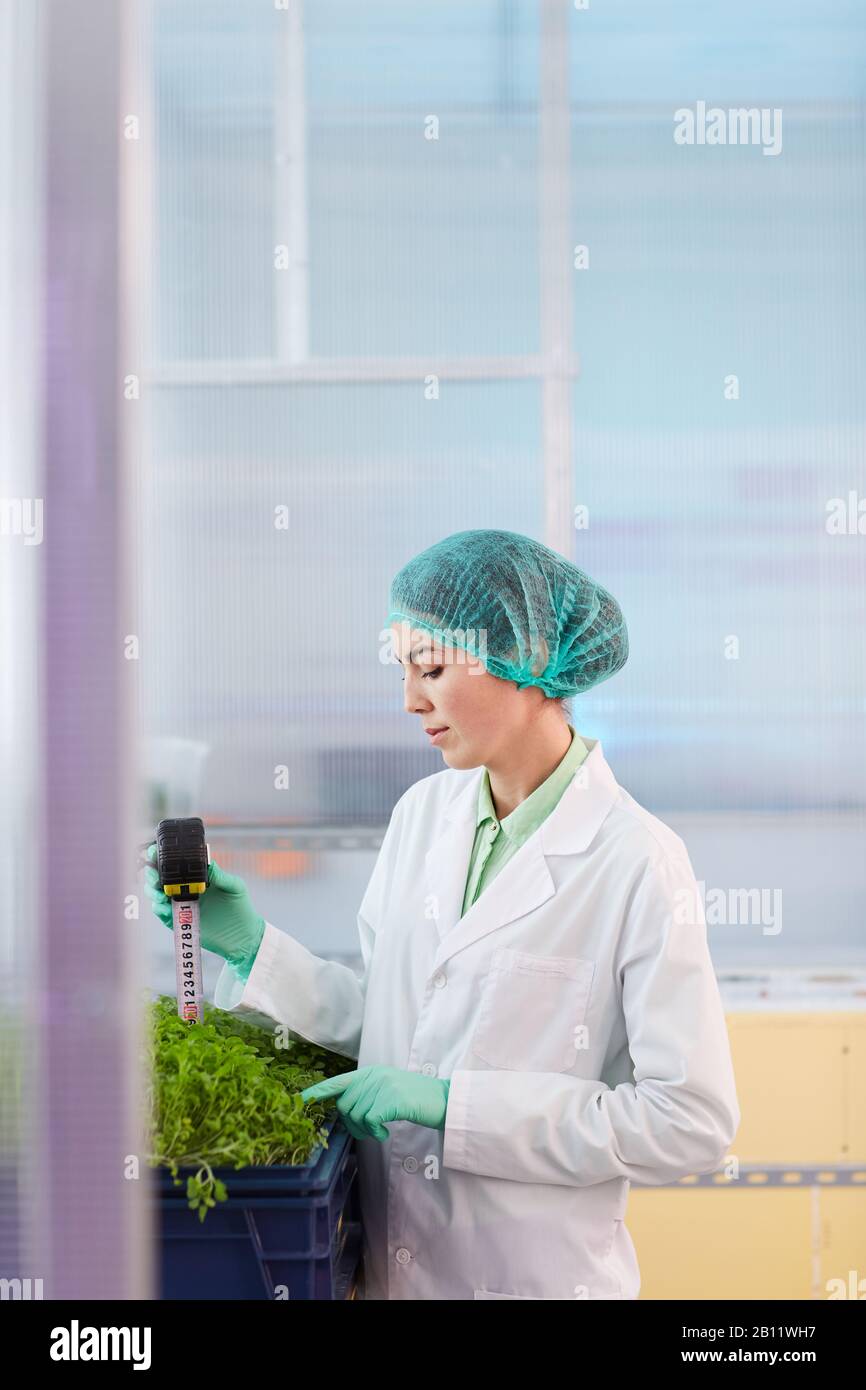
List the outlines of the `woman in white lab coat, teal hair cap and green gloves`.
{"label": "woman in white lab coat, teal hair cap and green gloves", "polygon": [[563,708],[626,663],[623,616],[537,541],[461,531],[386,623],[446,767],[392,812],[363,976],[213,865],[214,1001],[357,1058],[303,1097],[359,1140],[367,1298],[637,1298],[630,1182],[714,1169],[740,1109],[687,849]]}

